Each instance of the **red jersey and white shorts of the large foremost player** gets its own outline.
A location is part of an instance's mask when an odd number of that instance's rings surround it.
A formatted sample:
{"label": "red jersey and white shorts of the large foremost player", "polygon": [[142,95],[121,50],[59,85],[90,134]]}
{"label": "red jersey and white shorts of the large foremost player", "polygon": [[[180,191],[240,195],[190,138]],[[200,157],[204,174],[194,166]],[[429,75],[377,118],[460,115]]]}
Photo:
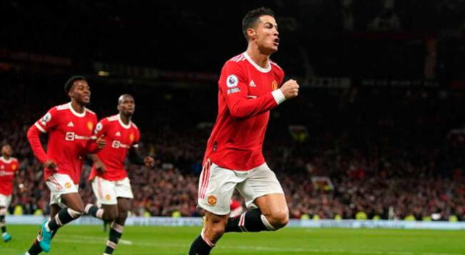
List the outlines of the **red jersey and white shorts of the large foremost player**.
{"label": "red jersey and white shorts of the large foremost player", "polygon": [[234,188],[247,207],[265,194],[283,193],[262,155],[270,110],[285,100],[284,71],[269,61],[257,65],[247,53],[225,63],[218,81],[218,117],[208,139],[198,204],[215,214],[230,212]]}

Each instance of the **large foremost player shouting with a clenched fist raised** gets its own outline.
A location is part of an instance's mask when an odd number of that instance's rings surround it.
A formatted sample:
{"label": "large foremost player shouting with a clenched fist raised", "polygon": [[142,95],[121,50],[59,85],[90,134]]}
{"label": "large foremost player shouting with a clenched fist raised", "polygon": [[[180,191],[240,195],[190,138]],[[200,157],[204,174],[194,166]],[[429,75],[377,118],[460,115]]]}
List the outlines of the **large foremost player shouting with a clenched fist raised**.
{"label": "large foremost player shouting with a clenched fist raised", "polygon": [[[190,255],[207,255],[225,232],[275,231],[289,219],[274,172],[262,155],[270,110],[299,91],[295,80],[282,83],[284,72],[270,55],[280,43],[274,13],[260,8],[242,19],[247,51],[223,66],[218,81],[218,117],[208,139],[200,175],[198,205],[205,209],[201,234]],[[229,217],[234,189],[248,212]]]}

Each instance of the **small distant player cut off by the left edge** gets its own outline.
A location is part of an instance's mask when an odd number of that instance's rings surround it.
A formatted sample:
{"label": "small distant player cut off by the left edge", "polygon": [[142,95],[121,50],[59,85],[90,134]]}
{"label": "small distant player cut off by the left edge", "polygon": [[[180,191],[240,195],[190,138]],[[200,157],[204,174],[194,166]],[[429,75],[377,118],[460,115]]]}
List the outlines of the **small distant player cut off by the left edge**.
{"label": "small distant player cut off by the left edge", "polygon": [[11,194],[13,194],[13,179],[16,170],[19,168],[18,160],[11,157],[13,150],[10,145],[1,147],[0,157],[0,227],[1,239],[5,242],[11,240],[10,234],[6,232],[5,215],[6,210],[11,202]]}

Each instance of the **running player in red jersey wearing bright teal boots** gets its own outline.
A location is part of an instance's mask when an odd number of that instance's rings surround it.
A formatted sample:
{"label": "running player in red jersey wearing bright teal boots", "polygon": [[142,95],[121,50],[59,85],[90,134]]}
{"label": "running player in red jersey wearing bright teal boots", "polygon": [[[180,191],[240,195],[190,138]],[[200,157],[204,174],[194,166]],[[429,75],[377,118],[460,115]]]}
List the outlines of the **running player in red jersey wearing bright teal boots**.
{"label": "running player in red jersey wearing bright teal boots", "polygon": [[[103,137],[93,137],[97,117],[86,108],[91,100],[86,78],[69,78],[65,92],[71,102],[48,110],[27,132],[34,155],[44,165],[44,179],[51,193],[51,215],[41,225],[41,231],[26,255],[50,251],[51,239],[58,228],[81,217],[84,204],[78,193],[78,183],[84,157],[106,145]],[[47,152],[39,140],[41,133],[48,133]]]}

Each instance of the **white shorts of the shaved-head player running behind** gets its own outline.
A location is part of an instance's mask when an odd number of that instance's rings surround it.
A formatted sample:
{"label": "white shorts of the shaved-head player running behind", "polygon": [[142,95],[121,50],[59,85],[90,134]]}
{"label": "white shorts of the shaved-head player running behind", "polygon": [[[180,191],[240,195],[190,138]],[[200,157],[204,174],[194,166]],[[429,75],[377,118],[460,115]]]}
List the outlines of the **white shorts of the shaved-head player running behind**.
{"label": "white shorts of the shaved-head player running behind", "polygon": [[102,204],[118,204],[118,197],[134,198],[128,177],[118,181],[109,181],[96,176],[92,180],[92,189],[97,197],[98,207]]}

